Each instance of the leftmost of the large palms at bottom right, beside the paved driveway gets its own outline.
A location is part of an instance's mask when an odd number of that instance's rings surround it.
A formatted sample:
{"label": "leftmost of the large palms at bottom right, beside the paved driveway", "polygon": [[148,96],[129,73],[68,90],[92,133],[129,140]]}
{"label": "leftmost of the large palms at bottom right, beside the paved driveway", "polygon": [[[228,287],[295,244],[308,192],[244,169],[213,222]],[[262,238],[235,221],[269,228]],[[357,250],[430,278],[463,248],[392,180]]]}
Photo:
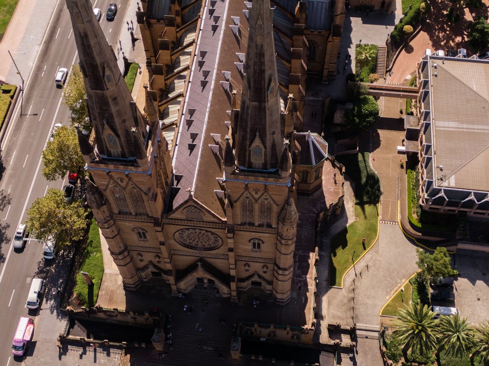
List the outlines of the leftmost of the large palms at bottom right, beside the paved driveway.
{"label": "leftmost of the large palms at bottom right, beside the paved driveway", "polygon": [[404,309],[399,310],[399,318],[395,321],[398,329],[392,334],[404,344],[402,353],[406,356],[409,349],[419,352],[420,355],[433,352],[437,347],[437,321],[433,317],[437,313],[421,301],[413,303],[411,307],[404,306]]}

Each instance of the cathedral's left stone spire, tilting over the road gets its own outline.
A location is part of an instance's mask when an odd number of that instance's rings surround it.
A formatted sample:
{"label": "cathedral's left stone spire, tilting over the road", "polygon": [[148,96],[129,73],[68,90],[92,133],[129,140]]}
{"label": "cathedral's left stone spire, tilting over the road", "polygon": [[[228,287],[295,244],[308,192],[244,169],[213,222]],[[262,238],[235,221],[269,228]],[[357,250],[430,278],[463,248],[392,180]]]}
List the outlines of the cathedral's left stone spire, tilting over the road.
{"label": "cathedral's left stone spire, tilting over the road", "polygon": [[144,159],[146,126],[107,44],[90,0],[66,0],[80,69],[87,90],[90,120],[100,163],[107,158]]}

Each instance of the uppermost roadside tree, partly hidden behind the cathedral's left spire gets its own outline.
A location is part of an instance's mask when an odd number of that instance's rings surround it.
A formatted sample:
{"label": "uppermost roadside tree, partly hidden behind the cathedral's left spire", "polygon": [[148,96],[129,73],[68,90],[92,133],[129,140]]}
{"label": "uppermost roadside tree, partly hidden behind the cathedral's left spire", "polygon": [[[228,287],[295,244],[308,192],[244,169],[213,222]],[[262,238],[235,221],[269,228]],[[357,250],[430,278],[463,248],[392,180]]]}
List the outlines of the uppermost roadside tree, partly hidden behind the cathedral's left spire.
{"label": "uppermost roadside tree, partly hidden behind the cathedral's left spire", "polygon": [[71,75],[65,85],[64,94],[65,105],[71,112],[71,123],[89,130],[91,128],[88,126],[89,111],[85,102],[87,90],[85,89],[85,82],[83,80],[83,74],[80,71],[80,66],[73,65],[71,68]]}

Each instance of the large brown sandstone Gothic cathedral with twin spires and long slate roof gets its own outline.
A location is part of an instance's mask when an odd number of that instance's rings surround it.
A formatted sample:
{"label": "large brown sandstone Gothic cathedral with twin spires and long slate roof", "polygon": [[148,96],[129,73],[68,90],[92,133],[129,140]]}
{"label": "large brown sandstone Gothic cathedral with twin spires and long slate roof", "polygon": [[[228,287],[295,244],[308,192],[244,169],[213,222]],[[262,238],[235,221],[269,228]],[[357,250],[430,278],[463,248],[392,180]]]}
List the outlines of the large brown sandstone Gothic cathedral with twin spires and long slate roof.
{"label": "large brown sandstone Gothic cathedral with twin spires and long slate roof", "polygon": [[344,13],[315,0],[142,0],[140,110],[90,1],[66,2],[93,126],[79,133],[87,202],[125,288],[201,285],[230,301],[254,288],[288,303],[297,197],[321,189],[334,160],[302,131],[306,80],[334,73]]}

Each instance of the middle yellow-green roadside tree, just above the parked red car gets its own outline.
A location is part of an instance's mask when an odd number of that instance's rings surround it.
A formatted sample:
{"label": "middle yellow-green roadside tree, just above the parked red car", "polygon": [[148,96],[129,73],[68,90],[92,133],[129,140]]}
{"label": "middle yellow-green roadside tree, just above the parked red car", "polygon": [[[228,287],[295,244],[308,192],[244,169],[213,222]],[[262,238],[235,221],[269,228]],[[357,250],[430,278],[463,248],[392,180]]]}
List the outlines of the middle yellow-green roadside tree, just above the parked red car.
{"label": "middle yellow-green roadside tree, just above the parked red car", "polygon": [[61,126],[56,129],[51,141],[43,151],[43,175],[47,180],[64,178],[67,172],[78,172],[85,165],[85,158],[80,151],[78,134],[74,127]]}

